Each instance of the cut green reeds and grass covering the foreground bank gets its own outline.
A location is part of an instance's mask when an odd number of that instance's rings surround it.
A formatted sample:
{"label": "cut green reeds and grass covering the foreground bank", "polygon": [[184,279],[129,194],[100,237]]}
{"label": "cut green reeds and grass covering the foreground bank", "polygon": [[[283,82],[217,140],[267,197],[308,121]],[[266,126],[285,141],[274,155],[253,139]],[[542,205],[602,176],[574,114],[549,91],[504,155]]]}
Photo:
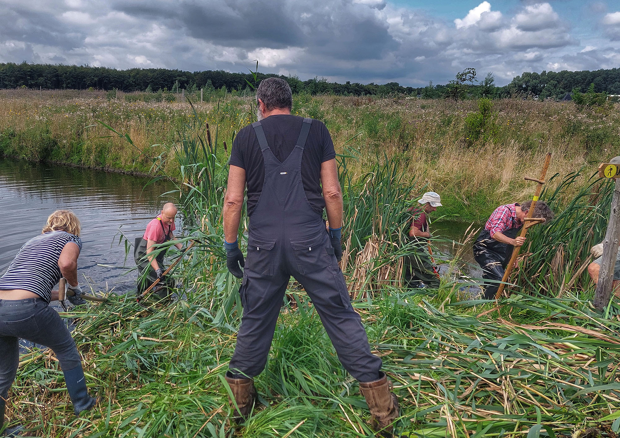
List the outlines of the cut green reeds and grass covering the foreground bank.
{"label": "cut green reeds and grass covering the foreground bank", "polygon": [[[236,431],[222,379],[240,305],[231,295],[229,313],[219,316],[225,296],[217,287],[150,312],[130,299],[78,312],[74,338],[99,408],[75,419],[58,362],[34,351],[22,356],[9,418],[46,437],[370,436],[357,383],[305,295],[291,293],[299,305],[278,320],[256,379],[260,403]],[[613,318],[603,319],[588,297],[521,296],[480,317],[489,305],[464,309],[445,295],[392,290],[356,304],[401,398],[397,431],[574,437],[595,428],[615,436],[620,309],[614,304]]]}

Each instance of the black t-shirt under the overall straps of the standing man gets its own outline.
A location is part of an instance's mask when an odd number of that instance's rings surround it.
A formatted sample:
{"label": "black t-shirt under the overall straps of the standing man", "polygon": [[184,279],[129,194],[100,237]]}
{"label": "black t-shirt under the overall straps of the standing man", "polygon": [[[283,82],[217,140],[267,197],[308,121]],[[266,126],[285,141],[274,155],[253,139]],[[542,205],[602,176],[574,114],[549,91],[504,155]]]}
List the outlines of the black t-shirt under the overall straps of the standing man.
{"label": "black t-shirt under the overall straps of the standing man", "polygon": [[[303,121],[303,117],[285,114],[268,116],[260,121],[267,144],[280,162],[286,160],[293,151]],[[301,182],[310,206],[318,213],[322,213],[325,208],[321,189],[321,163],[335,156],[334,143],[327,127],[319,120],[312,120],[301,157]],[[241,129],[235,137],[229,164],[246,170],[247,212],[252,214],[265,180],[265,161],[252,125]]]}

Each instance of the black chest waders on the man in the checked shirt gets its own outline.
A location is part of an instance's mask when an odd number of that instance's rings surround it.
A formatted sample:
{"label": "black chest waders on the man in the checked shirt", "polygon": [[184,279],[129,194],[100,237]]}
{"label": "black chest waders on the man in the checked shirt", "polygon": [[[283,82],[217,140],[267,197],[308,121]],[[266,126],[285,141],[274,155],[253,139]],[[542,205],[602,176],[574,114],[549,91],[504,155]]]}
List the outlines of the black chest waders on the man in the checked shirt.
{"label": "black chest waders on the man in the checked shirt", "polygon": [[[515,239],[516,235],[520,232],[521,227],[511,228],[502,232],[506,237]],[[483,229],[476,242],[474,243],[474,258],[480,265],[480,268],[484,270],[482,278],[486,280],[502,281],[503,274],[506,271],[508,261],[513,250],[512,245],[506,243],[497,242],[491,237],[489,230]],[[498,283],[489,283],[484,285],[484,297],[487,300],[495,299],[495,293],[499,287]]]}

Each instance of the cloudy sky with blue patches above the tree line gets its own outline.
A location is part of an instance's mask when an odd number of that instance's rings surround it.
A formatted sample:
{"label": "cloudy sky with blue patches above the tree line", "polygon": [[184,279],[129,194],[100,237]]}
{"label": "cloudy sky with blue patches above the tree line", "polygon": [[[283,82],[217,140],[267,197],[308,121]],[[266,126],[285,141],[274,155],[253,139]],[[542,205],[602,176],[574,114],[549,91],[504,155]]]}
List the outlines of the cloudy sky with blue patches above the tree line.
{"label": "cloudy sky with blue patches above the tree line", "polygon": [[0,62],[445,84],[620,67],[618,0],[0,0]]}

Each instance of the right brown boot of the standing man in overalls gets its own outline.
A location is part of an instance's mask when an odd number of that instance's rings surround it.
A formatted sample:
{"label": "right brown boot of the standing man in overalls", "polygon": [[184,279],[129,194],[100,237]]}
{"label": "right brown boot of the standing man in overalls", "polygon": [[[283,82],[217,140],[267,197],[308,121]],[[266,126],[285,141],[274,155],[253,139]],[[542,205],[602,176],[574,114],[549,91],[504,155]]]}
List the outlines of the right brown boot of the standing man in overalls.
{"label": "right brown boot of the standing man in overalls", "polygon": [[391,437],[392,423],[399,416],[398,398],[391,391],[392,384],[386,374],[381,371],[379,375],[381,378],[374,382],[360,382],[360,392],[368,403],[374,431],[381,431],[382,436]]}

